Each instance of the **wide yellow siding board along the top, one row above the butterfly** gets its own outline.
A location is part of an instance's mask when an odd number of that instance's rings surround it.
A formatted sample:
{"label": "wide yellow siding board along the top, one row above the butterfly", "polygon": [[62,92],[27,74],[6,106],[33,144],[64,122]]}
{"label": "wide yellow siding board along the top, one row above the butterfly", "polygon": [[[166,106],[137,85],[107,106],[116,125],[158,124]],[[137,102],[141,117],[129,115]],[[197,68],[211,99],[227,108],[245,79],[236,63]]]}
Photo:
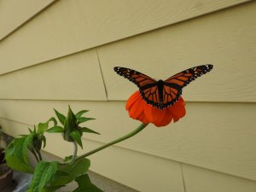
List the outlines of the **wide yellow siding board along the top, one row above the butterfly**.
{"label": "wide yellow siding board along the top, one row above the butterfly", "polygon": [[[168,26],[247,0],[57,1],[0,44],[0,73]],[[15,55],[15,56],[13,56]]]}

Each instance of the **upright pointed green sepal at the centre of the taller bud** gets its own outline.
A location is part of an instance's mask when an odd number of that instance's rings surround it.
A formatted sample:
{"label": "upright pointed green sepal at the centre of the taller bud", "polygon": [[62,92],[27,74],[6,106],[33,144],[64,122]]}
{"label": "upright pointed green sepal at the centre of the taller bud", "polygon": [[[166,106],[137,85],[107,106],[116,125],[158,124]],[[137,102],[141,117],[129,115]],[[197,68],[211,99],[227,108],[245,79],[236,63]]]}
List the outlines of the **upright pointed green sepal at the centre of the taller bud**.
{"label": "upright pointed green sepal at the centre of the taller bud", "polygon": [[64,122],[64,140],[68,142],[74,141],[70,133],[73,131],[76,131],[76,127],[77,127],[77,118],[74,115],[71,108],[68,106],[67,118],[65,119],[65,122]]}

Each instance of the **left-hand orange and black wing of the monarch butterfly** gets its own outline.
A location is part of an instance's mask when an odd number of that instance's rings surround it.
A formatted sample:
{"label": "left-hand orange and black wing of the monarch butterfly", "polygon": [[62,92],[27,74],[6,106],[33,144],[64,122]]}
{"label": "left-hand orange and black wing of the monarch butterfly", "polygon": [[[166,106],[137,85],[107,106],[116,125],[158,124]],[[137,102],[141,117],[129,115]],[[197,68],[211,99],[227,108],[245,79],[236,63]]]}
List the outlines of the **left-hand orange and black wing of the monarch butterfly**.
{"label": "left-hand orange and black wing of the monarch butterfly", "polygon": [[156,80],[130,68],[114,67],[113,70],[125,79],[137,84],[145,102],[154,106],[159,105],[159,87]]}

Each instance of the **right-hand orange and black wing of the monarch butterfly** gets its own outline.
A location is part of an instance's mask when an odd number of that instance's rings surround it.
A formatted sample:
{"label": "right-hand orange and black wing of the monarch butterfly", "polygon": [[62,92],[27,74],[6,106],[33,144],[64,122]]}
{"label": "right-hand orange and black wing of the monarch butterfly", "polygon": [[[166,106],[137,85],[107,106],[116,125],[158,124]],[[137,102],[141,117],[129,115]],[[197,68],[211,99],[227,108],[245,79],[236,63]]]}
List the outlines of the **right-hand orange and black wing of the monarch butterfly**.
{"label": "right-hand orange and black wing of the monarch butterfly", "polygon": [[163,108],[172,106],[177,102],[177,99],[182,94],[183,87],[201,75],[210,72],[212,67],[210,64],[192,67],[166,79],[163,85],[163,103],[161,104]]}

